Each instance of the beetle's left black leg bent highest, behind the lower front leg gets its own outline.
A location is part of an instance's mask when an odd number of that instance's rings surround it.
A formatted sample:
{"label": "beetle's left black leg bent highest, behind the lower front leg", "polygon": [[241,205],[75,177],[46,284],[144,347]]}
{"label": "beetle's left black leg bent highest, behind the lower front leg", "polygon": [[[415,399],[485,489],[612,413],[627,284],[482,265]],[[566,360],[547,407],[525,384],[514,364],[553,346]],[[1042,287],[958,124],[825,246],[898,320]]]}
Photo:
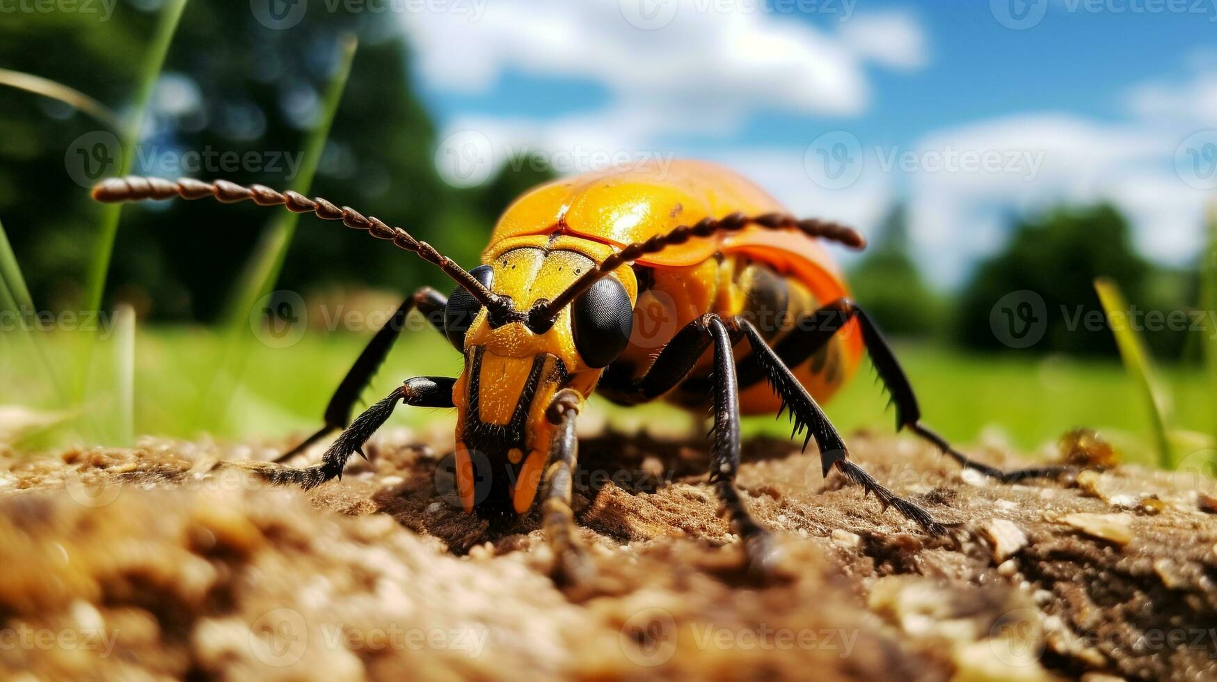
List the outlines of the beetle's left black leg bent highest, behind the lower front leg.
{"label": "beetle's left black leg bent highest, behind the lower front leg", "polygon": [[325,426],[321,426],[320,431],[305,438],[301,445],[281,454],[275,462],[286,462],[331,432],[346,429],[350,420],[350,409],[355,406],[359,395],[363,393],[368,382],[371,381],[372,374],[385,362],[389,348],[393,347],[393,341],[402,334],[402,330],[405,328],[405,318],[410,314],[410,311],[417,308],[420,313],[426,315],[427,322],[443,334],[444,306],[447,304],[448,300],[444,298],[444,295],[430,286],[419,289],[413,296],[403,301],[402,306],[393,313],[393,317],[376,331],[372,340],[359,353],[359,359],[355,360],[355,364],[347,371],[342,382],[338,384],[333,397],[330,398],[330,404],[325,408]]}

